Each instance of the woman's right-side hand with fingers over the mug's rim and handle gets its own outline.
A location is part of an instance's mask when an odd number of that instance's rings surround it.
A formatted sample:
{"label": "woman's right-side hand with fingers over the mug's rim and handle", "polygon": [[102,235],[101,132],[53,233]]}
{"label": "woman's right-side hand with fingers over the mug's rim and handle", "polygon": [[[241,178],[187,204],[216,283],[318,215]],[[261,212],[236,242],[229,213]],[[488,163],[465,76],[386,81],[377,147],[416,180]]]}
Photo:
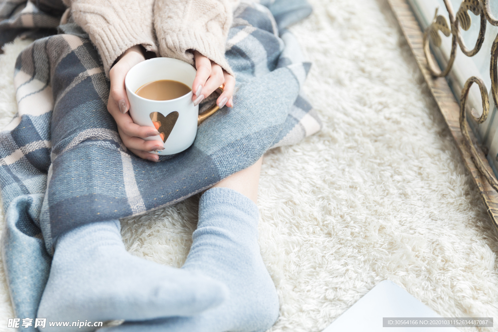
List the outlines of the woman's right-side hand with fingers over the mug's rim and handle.
{"label": "woman's right-side hand with fingers over the mug's rim and handle", "polygon": [[211,95],[219,86],[225,84],[223,93],[216,100],[216,105],[221,109],[225,105],[228,107],[234,106],[235,78],[224,71],[216,63],[197,51],[194,51],[195,67],[197,75],[192,84],[192,92],[194,96],[192,100],[194,105],[198,105],[205,97]]}

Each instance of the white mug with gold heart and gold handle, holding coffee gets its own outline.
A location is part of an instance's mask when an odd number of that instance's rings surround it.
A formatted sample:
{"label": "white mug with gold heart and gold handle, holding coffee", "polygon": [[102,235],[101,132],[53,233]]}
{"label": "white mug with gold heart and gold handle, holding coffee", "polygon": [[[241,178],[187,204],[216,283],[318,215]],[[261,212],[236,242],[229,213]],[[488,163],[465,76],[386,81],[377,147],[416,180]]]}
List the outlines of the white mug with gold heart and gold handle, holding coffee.
{"label": "white mug with gold heart and gold handle, holding coffee", "polygon": [[[135,92],[143,85],[159,81],[172,80],[192,87],[197,70],[190,64],[173,58],[153,58],[133,66],[124,79],[130,109],[129,114],[138,125],[154,127],[152,121],[160,121],[159,132],[164,132],[164,150],[151,151],[159,155],[181,152],[194,142],[197,126],[209,115],[218,111],[215,104],[199,114],[199,105],[194,106],[193,93],[167,101],[154,101],[138,96]],[[220,87],[223,89],[223,86]],[[156,113],[157,112],[157,113]],[[169,132],[169,133],[168,133]],[[144,138],[145,140],[162,140],[160,136]]]}

